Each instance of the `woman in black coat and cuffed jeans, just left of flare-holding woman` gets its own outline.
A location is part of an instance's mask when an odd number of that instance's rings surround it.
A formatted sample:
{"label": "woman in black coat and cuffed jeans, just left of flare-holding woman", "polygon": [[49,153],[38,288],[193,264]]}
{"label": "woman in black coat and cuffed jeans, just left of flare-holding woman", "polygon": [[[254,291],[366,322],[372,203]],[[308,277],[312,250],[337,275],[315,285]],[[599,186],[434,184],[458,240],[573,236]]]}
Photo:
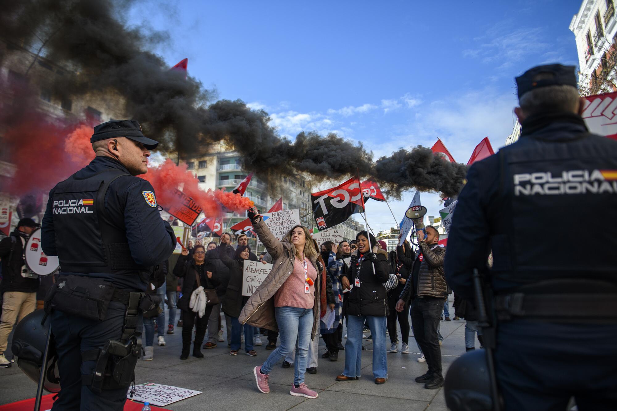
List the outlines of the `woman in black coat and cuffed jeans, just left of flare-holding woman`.
{"label": "woman in black coat and cuffed jeans, just left of flare-holding woman", "polygon": [[[240,312],[249,299],[242,296],[242,272],[244,272],[244,260],[250,259],[251,249],[246,245],[239,245],[236,248],[234,258],[230,258],[223,247],[219,248],[218,258],[229,268],[229,283],[227,291],[223,297],[223,312],[231,317],[231,351],[230,356],[237,356],[241,345],[240,330],[242,325],[238,321]],[[260,266],[262,262],[257,262]],[[254,357],[257,351],[253,349],[253,334],[255,327],[244,324],[244,351],[247,356]]]}

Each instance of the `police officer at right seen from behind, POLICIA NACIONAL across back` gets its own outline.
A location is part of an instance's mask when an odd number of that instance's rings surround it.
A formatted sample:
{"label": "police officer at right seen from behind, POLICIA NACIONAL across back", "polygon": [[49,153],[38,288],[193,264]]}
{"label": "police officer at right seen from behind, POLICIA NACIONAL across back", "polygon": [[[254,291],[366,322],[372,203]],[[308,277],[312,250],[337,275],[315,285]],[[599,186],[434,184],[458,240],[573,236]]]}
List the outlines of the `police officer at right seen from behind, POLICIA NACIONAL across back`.
{"label": "police officer at right seen from behind, POLICIA NACIONAL across back", "polygon": [[587,130],[574,67],[534,67],[516,83],[521,137],[471,166],[447,281],[473,301],[478,268],[493,293],[505,410],[565,410],[571,397],[580,411],[615,410],[617,141]]}

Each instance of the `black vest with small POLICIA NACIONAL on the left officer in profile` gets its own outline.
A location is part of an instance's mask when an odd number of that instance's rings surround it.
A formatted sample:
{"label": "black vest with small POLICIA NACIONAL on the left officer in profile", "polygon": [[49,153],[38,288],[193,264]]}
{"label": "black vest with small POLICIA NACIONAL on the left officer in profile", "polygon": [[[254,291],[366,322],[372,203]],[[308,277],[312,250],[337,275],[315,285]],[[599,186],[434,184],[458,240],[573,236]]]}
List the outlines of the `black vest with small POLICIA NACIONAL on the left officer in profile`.
{"label": "black vest with small POLICIA NACIONAL on the left officer in profile", "polygon": [[109,185],[129,175],[109,169],[86,179],[73,174],[56,185],[52,216],[62,272],[136,274],[124,222],[112,221],[104,206]]}

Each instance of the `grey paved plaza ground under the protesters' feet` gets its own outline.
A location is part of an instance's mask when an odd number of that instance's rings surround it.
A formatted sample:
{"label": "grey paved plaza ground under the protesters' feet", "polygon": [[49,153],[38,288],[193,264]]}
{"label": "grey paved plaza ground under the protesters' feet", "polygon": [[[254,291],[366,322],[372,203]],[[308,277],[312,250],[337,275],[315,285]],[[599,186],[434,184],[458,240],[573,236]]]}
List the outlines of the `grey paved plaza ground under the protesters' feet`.
{"label": "grey paved plaza ground under the protesters' feet", "polygon": [[[452,303],[450,312],[453,313]],[[445,375],[450,364],[465,352],[465,320],[442,321],[441,333],[444,336],[441,352]],[[203,391],[203,394],[165,407],[170,410],[447,410],[443,388],[424,389],[422,384],[413,381],[427,369],[425,362],[416,361],[418,348],[413,336],[410,336],[410,354],[388,352],[389,379],[384,385],[376,385],[373,380],[370,341],[364,340],[366,350],[362,352],[360,380],[339,382],[334,378],[344,368],[344,351],[339,353],[337,362],[322,359],[325,345],[320,339],[317,374],[306,374],[307,385],[319,393],[317,399],[289,395],[294,368],[284,369],[280,365],[271,372],[270,394],[257,391],[253,367],[262,364],[270,354],[265,343],[255,347],[257,357],[242,355],[244,348],[238,356],[232,357],[225,342],[219,343],[217,348],[202,350],[204,359],[189,356],[188,360],[180,360],[181,328],[176,328],[173,335],[165,335],[165,340],[166,346],[155,346],[154,360],[139,360],[136,383],[159,383]],[[266,338],[262,337],[262,340]],[[389,338],[386,341],[389,348]],[[31,398],[35,393],[36,384],[17,365],[0,369],[0,404]]]}

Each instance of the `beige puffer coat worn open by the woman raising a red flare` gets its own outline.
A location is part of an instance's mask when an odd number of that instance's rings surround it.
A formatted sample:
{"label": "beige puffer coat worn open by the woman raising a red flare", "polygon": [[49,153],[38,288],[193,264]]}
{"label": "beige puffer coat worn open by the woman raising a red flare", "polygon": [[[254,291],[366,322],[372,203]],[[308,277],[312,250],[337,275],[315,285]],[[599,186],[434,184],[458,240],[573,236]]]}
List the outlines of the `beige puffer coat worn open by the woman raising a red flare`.
{"label": "beige puffer coat worn open by the woman raising a red flare", "polygon": [[[253,327],[267,328],[278,332],[276,324],[276,316],[274,310],[274,295],[276,291],[283,285],[285,280],[294,271],[294,261],[296,261],[295,248],[292,243],[281,242],[270,232],[265,222],[260,221],[253,223],[253,230],[259,240],[263,243],[268,253],[272,256],[272,271],[268,277],[257,287],[257,290],[249,297],[246,302],[238,321],[240,324],[252,325]],[[315,267],[315,271],[320,272],[317,268],[315,259],[310,260]],[[313,304],[313,331],[311,332],[311,340],[315,339],[315,335],[319,335],[320,322],[320,290],[321,290],[321,275],[315,280],[315,304]]]}

